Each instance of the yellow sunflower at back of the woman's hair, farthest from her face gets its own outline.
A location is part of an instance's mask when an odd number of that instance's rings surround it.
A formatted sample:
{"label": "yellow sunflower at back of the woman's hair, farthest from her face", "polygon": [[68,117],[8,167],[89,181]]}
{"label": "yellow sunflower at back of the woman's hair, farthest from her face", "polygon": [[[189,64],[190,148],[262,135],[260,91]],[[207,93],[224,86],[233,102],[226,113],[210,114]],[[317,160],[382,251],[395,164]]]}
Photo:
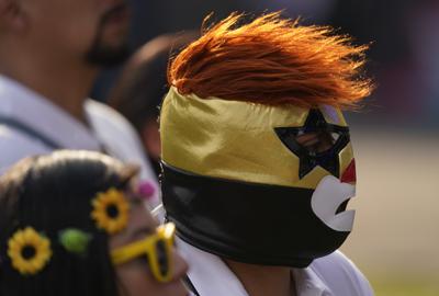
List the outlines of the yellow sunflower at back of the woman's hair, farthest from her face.
{"label": "yellow sunflower at back of the woman's hair, farthest from her face", "polygon": [[18,230],[8,242],[12,266],[21,274],[35,274],[50,260],[50,241],[32,227]]}

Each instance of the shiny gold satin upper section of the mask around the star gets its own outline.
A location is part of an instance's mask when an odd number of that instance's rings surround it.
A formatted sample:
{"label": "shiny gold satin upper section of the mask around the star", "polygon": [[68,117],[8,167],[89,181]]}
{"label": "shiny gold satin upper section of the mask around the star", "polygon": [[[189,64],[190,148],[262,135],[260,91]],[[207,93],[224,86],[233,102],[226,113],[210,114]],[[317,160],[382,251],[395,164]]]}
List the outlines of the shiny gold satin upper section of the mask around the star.
{"label": "shiny gold satin upper section of the mask around the star", "polygon": [[[347,126],[339,110],[322,106],[320,111],[328,123]],[[315,189],[330,173],[316,167],[301,179],[299,158],[274,132],[278,127],[303,126],[308,112],[293,105],[200,99],[171,88],[160,115],[161,158],[201,175]],[[338,158],[342,174],[353,158],[350,143]]]}

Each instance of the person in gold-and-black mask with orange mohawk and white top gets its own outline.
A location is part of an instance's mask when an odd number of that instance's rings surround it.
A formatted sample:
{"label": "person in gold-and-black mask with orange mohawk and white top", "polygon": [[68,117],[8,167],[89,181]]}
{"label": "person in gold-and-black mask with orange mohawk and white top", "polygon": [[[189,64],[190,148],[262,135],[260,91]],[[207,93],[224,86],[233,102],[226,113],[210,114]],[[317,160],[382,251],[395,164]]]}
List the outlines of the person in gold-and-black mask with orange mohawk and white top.
{"label": "person in gold-and-black mask with orange mohawk and white top", "polygon": [[337,249],[354,210],[342,110],[368,96],[365,46],[270,13],[232,14],[171,62],[161,191],[201,296],[371,296]]}

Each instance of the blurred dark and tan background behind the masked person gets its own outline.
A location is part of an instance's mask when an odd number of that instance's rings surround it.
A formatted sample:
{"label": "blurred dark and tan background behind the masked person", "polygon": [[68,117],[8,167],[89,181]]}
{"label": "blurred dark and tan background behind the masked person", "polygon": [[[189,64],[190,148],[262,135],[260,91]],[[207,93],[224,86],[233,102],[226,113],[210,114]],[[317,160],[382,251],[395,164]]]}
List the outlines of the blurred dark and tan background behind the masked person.
{"label": "blurred dark and tan background behind the masked person", "polygon": [[[348,114],[356,148],[356,229],[346,252],[376,295],[439,295],[438,0],[132,0],[131,47],[200,30],[205,15],[283,10],[370,44],[378,89]],[[104,71],[91,96],[108,101],[124,65]],[[157,79],[164,77],[157,72]],[[155,79],[150,77],[149,79]],[[165,89],[165,84],[162,86]]]}

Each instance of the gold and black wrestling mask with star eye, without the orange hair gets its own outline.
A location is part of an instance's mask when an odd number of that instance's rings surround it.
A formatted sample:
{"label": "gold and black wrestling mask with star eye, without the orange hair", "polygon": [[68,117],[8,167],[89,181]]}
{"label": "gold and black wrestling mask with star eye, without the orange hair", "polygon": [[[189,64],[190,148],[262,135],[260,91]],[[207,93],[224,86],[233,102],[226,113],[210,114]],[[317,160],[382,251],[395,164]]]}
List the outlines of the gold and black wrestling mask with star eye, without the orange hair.
{"label": "gold and black wrestling mask with star eye, without the orange hair", "polygon": [[352,229],[354,212],[345,209],[354,160],[335,107],[200,99],[171,88],[160,135],[167,217],[200,249],[304,267]]}

